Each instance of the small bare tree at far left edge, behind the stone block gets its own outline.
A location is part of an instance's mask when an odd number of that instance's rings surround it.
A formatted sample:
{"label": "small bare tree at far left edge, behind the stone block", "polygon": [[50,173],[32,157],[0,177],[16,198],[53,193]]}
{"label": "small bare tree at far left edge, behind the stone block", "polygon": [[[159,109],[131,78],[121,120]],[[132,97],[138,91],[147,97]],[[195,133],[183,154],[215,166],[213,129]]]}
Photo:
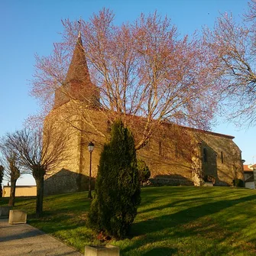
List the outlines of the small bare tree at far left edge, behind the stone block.
{"label": "small bare tree at far left edge, behind the stone block", "polygon": [[16,182],[21,174],[24,173],[24,169],[18,162],[18,154],[15,151],[15,147],[11,145],[11,141],[8,135],[2,137],[0,141],[0,151],[2,157],[0,163],[4,170],[4,176],[11,182],[10,199],[8,206],[15,206],[15,190]]}

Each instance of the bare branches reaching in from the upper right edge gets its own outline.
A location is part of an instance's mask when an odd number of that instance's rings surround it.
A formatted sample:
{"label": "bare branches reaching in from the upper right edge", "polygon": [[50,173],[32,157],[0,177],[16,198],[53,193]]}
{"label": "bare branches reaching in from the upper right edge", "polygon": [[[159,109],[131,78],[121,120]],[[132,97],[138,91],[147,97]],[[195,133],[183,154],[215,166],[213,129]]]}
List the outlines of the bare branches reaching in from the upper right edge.
{"label": "bare branches reaching in from the upper right edge", "polygon": [[[215,73],[222,81],[224,102],[230,118],[238,125],[256,125],[256,2],[249,3],[244,20],[235,21],[232,14],[221,15],[213,31],[204,31],[205,42],[212,53]],[[228,110],[226,109],[226,110]]]}

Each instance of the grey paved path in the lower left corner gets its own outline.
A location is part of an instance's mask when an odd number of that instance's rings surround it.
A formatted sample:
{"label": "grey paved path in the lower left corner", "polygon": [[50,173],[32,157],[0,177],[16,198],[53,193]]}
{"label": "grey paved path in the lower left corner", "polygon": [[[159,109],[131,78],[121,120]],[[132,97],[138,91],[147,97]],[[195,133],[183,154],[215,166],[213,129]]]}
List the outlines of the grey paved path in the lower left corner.
{"label": "grey paved path in the lower left corner", "polygon": [[0,219],[0,256],[81,256],[78,251],[28,224]]}

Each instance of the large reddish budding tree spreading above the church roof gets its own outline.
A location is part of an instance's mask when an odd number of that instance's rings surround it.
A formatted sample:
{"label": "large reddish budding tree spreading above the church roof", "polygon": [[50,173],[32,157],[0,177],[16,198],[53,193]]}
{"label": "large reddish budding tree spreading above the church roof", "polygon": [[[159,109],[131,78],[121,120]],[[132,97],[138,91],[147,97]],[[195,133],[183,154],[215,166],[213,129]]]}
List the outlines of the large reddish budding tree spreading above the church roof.
{"label": "large reddish budding tree spreading above the church roof", "polygon": [[[63,43],[54,44],[50,57],[36,57],[32,94],[47,103],[47,112],[57,89],[73,102],[76,115],[92,101],[82,92],[79,97],[74,96],[79,86],[70,91],[71,81],[66,76],[75,44],[79,44],[92,83],[99,89],[98,110],[109,119],[118,116],[131,126],[138,120],[134,116],[143,117],[136,149],[147,144],[163,120],[210,127],[218,105],[215,92],[219,83],[208,75],[211,55],[196,35],[180,37],[170,19],[157,13],[115,26],[112,11],[106,9],[88,22],[65,20],[63,27]],[[76,40],[79,33],[83,44],[80,37]],[[76,77],[79,79],[82,78]],[[86,99],[78,100],[83,97]],[[81,113],[83,121],[96,129],[89,113]]]}

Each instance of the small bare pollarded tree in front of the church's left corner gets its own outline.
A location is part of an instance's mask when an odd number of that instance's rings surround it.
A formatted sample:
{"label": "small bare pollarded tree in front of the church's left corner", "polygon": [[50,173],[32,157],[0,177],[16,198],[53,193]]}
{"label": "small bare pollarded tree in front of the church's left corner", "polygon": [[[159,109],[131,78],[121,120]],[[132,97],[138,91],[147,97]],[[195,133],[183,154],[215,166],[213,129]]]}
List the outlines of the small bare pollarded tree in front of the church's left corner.
{"label": "small bare pollarded tree in front of the church's left corner", "polygon": [[52,126],[45,126],[44,131],[24,129],[8,135],[18,154],[19,164],[29,170],[36,181],[37,217],[43,213],[44,176],[67,158],[66,137],[66,134]]}

